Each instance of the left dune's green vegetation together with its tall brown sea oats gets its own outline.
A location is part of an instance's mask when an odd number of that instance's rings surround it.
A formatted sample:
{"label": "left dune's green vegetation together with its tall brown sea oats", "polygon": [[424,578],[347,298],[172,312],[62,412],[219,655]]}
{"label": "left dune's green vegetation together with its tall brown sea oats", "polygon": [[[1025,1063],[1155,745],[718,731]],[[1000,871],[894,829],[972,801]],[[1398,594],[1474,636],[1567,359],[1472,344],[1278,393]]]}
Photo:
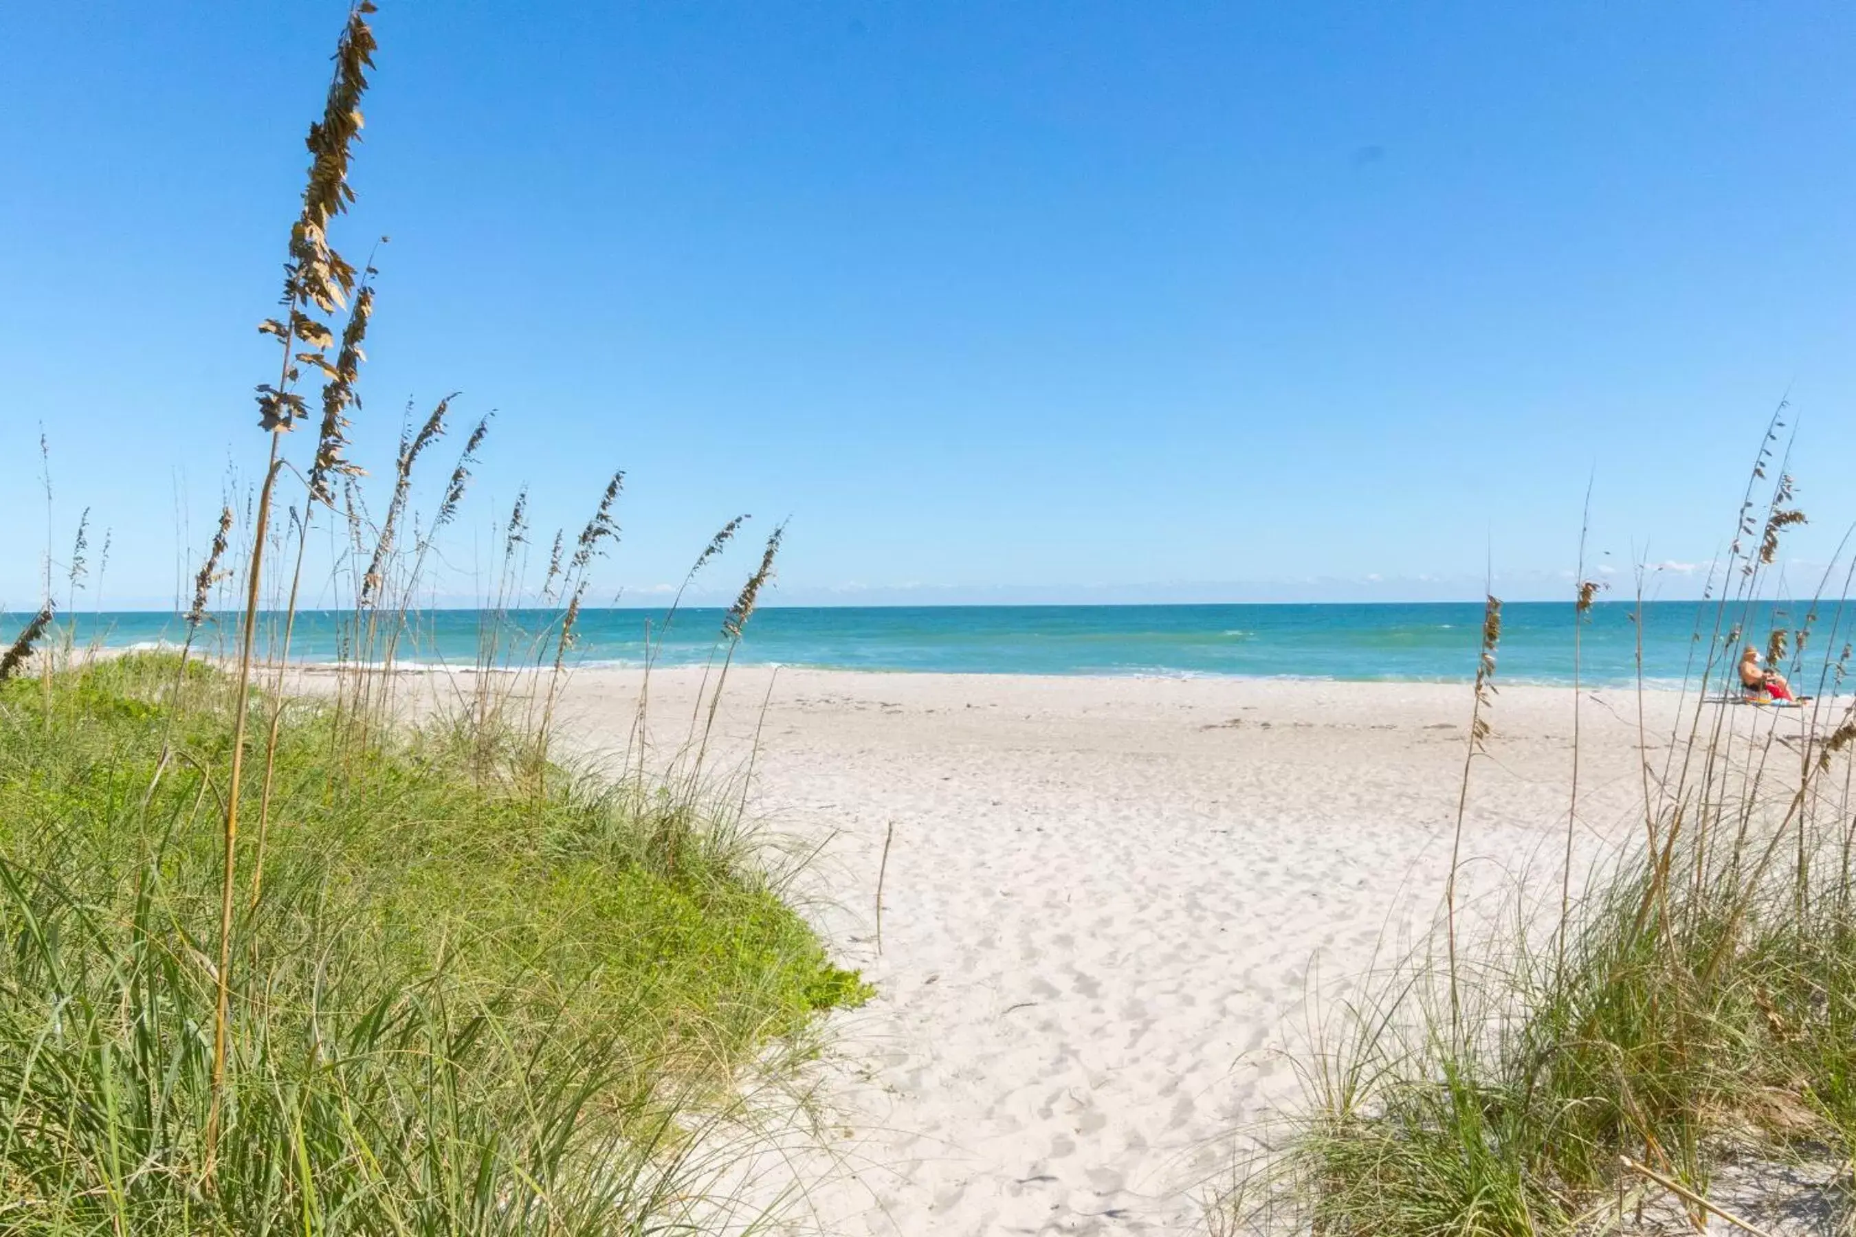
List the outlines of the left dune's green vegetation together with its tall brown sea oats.
{"label": "left dune's green vegetation together with its tall brown sea oats", "polygon": [[[451,401],[408,423],[369,514],[347,430],[373,269],[329,230],[354,200],[371,11],[342,32],[282,308],[260,326],[282,358],[258,388],[267,462],[228,495],[182,647],[74,649],[48,553],[46,605],[0,662],[9,1233],[739,1228],[755,1087],[809,1050],[815,1014],[867,994],[783,901],[726,770],[648,770],[640,749],[601,777],[557,751],[620,475],[538,586],[516,503],[484,673],[401,699],[395,649],[488,423],[423,514],[414,477]],[[323,521],[353,612],[340,666],[306,690],[290,636]],[[716,634],[724,666],[776,549]],[[514,631],[497,616],[518,603],[551,621]]]}

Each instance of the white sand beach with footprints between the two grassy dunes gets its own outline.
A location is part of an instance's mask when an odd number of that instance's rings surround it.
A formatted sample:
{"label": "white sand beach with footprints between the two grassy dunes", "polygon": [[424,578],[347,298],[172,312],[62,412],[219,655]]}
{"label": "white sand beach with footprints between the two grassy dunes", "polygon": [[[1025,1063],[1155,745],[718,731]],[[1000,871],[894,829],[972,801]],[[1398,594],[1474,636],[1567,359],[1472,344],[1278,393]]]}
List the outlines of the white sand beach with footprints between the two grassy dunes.
{"label": "white sand beach with footprints between the two grassy dunes", "polygon": [[[698,677],[653,675],[661,751]],[[568,731],[624,746],[637,684],[581,671]],[[1572,701],[1496,697],[1474,888],[1533,864],[1557,898]],[[1646,701],[1652,762],[1676,707]],[[793,1231],[1190,1231],[1295,1096],[1305,998],[1437,912],[1468,716],[1466,684],[735,668],[713,759],[759,731],[759,814],[818,848],[809,912],[878,988],[833,1018]],[[1635,827],[1637,695],[1589,692],[1581,727],[1587,862]]]}

